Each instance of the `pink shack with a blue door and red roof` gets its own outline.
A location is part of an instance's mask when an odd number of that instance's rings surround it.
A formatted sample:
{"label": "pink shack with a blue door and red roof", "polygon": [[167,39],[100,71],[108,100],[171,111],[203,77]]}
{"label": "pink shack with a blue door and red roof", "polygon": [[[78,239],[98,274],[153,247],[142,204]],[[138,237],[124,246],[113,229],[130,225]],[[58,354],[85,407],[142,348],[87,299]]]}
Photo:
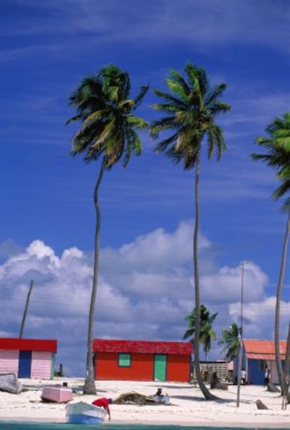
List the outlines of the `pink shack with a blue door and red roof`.
{"label": "pink shack with a blue door and red roof", "polygon": [[53,379],[56,340],[0,338],[0,373]]}

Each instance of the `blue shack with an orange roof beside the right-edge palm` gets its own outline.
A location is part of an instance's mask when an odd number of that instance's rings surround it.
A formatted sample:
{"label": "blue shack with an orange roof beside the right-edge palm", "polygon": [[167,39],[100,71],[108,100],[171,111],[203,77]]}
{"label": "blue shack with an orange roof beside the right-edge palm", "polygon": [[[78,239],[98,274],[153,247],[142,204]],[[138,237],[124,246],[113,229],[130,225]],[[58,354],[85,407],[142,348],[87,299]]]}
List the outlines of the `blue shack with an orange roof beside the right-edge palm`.
{"label": "blue shack with an orange roof beside the right-edge palm", "polygon": [[[286,353],[286,340],[280,341],[282,365]],[[270,369],[270,382],[278,384],[277,367],[275,362],[274,340],[243,339],[242,367],[247,371],[249,384],[263,385],[265,366]],[[234,375],[237,380],[237,357],[234,359]]]}

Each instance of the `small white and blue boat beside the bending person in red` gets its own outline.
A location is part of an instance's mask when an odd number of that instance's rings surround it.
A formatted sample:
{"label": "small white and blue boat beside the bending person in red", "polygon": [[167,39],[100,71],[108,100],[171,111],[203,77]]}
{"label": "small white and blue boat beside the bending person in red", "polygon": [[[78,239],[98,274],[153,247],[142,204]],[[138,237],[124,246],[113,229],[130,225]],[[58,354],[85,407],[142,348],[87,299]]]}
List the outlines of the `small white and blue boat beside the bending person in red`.
{"label": "small white and blue boat beside the bending person in red", "polygon": [[106,416],[103,408],[83,401],[69,403],[65,409],[67,422],[70,424],[102,424]]}

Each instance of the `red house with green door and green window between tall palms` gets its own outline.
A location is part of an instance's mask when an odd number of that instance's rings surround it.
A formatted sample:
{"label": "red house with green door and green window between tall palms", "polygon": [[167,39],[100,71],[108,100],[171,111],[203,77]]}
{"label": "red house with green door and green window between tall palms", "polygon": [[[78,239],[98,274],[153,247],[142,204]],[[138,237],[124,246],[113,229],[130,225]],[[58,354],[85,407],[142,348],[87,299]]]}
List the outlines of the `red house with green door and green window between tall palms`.
{"label": "red house with green door and green window between tall palms", "polygon": [[190,342],[95,339],[93,351],[96,380],[190,381]]}

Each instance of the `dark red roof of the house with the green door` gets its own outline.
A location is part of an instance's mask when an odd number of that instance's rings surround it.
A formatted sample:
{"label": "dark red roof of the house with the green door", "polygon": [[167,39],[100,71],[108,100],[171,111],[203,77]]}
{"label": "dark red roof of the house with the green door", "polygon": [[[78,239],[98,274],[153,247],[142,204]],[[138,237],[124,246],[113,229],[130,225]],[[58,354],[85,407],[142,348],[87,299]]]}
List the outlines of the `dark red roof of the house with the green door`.
{"label": "dark red roof of the house with the green door", "polygon": [[193,347],[190,342],[158,342],[155,340],[94,339],[92,349],[94,352],[143,352],[182,355],[193,353]]}

